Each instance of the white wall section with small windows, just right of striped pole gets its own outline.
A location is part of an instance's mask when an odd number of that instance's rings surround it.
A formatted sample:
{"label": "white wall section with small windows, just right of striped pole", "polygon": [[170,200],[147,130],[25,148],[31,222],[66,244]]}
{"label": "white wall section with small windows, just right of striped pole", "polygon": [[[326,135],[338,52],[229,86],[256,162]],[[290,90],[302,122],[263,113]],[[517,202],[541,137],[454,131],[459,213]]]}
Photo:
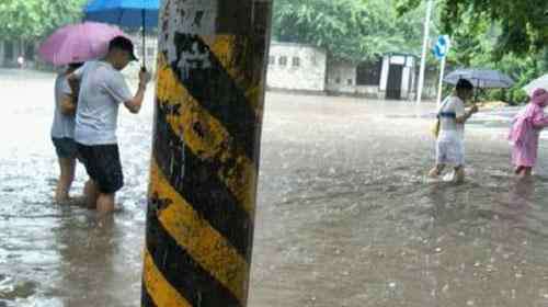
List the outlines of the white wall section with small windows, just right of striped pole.
{"label": "white wall section with small windows, just right of striped pole", "polygon": [[323,92],[326,66],[327,53],[322,49],[273,42],[269,54],[266,84],[270,89]]}

